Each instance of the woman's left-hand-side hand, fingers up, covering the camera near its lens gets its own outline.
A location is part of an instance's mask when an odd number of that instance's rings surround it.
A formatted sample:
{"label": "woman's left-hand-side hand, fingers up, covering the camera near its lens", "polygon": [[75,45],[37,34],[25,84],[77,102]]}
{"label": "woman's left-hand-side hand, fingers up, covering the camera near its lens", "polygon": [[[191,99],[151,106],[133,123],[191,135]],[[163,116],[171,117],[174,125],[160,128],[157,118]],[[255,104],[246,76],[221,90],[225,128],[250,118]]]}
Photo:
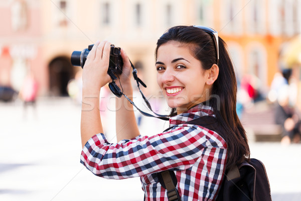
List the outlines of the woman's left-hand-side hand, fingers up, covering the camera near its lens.
{"label": "woman's left-hand-side hand, fingers up, covering the camera near its lens", "polygon": [[107,74],[110,46],[108,41],[97,41],[89,52],[83,68],[83,90],[99,92],[111,80]]}

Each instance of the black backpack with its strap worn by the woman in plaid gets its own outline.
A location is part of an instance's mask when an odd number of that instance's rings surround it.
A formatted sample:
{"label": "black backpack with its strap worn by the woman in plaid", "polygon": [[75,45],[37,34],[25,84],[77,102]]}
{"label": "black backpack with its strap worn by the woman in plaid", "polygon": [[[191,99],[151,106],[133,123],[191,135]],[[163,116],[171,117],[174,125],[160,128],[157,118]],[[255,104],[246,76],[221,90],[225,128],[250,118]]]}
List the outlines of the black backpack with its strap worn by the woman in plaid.
{"label": "black backpack with its strap worn by the woman in plaid", "polygon": [[[214,117],[204,116],[185,124],[203,126],[215,130],[217,122]],[[172,128],[172,127],[171,127]],[[170,130],[166,129],[165,131]],[[166,170],[157,173],[159,182],[167,189],[169,201],[181,201],[174,171]],[[217,201],[271,201],[269,181],[263,163],[251,158],[225,172]]]}

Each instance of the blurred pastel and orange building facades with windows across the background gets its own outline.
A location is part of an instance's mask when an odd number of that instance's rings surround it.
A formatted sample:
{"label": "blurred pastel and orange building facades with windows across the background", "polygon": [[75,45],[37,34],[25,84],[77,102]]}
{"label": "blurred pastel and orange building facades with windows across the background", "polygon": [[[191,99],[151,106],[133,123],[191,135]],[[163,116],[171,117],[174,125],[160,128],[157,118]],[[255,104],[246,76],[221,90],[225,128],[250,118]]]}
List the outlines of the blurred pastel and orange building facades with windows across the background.
{"label": "blurred pastel and orange building facades with windows across the background", "polygon": [[109,40],[144,68],[157,89],[157,39],[175,25],[205,25],[227,42],[237,75],[253,74],[265,92],[283,44],[300,34],[301,0],[0,0],[0,85],[19,90],[29,70],[40,95],[67,95],[80,67],[70,56]]}

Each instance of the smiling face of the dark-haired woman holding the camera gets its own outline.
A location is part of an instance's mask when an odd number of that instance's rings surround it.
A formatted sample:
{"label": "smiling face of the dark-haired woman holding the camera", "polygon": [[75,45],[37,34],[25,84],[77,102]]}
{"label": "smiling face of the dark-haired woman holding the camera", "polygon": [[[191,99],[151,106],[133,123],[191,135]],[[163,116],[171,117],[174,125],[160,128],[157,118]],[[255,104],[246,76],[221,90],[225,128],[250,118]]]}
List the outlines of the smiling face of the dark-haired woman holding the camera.
{"label": "smiling face of the dark-haired woman holding the camera", "polygon": [[168,106],[177,108],[178,114],[209,98],[207,73],[191,54],[188,44],[172,41],[161,45],[156,68],[157,81]]}

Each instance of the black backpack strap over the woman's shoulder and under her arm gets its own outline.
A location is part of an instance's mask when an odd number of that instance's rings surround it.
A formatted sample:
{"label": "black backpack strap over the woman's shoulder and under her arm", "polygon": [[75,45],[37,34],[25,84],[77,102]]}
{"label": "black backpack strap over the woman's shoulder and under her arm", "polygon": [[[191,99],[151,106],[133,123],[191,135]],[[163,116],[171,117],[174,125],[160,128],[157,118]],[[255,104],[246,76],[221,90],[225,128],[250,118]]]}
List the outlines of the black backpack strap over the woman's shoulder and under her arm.
{"label": "black backpack strap over the woman's shoulder and under her arm", "polygon": [[[212,116],[203,116],[199,117],[197,119],[191,120],[189,122],[185,122],[185,124],[194,124],[203,126],[209,130],[215,131],[217,128],[217,122],[216,119]],[[166,129],[164,132],[172,129],[173,127],[170,127]],[[169,201],[181,201],[181,197],[179,195],[177,186],[177,177],[175,175],[174,171],[166,170],[163,172],[159,172],[157,174],[159,182],[161,185],[167,189],[167,197]]]}

